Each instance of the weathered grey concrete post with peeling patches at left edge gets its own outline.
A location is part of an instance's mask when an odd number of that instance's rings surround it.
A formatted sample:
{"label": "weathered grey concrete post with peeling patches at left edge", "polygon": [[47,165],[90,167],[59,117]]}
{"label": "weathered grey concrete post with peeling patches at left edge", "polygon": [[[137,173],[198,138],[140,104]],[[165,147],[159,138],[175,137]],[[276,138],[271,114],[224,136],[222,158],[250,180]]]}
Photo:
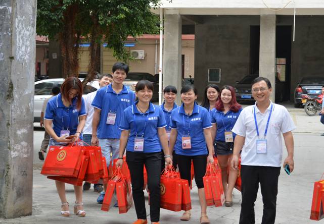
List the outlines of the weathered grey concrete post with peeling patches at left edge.
{"label": "weathered grey concrete post with peeling patches at left edge", "polygon": [[0,1],[0,218],[32,213],[36,0]]}

